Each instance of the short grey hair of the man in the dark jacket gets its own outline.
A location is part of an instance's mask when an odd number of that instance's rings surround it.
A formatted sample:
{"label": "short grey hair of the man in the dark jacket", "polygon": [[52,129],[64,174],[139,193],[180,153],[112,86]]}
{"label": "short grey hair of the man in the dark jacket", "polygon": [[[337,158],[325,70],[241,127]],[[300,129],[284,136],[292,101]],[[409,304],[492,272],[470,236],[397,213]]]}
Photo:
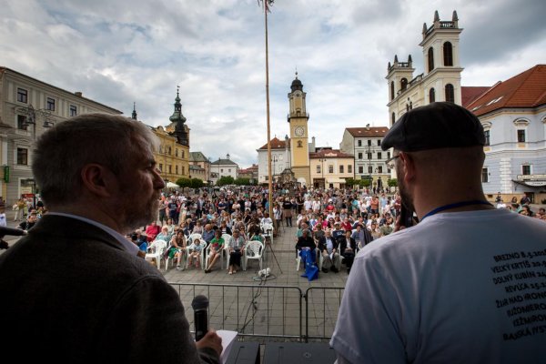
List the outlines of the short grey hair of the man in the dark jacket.
{"label": "short grey hair of the man in the dark jacket", "polygon": [[83,186],[81,170],[90,163],[108,167],[118,175],[140,136],[152,150],[159,140],[151,129],[124,116],[86,114],[72,117],[38,138],[32,171],[46,204],[74,200]]}

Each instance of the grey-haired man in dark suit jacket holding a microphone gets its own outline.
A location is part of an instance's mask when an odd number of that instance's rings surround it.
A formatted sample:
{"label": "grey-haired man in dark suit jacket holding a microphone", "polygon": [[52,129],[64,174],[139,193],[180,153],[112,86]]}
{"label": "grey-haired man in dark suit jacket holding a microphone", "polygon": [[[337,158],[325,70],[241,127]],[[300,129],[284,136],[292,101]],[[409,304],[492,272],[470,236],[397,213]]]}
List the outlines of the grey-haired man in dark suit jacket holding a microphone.
{"label": "grey-haired man in dark suit jacket holding a microphone", "polygon": [[[122,116],[76,116],[37,141],[50,211],[0,257],[0,342],[21,362],[217,363],[195,343],[177,291],[126,238],[157,219],[157,139]],[[135,200],[139,202],[136,204]]]}

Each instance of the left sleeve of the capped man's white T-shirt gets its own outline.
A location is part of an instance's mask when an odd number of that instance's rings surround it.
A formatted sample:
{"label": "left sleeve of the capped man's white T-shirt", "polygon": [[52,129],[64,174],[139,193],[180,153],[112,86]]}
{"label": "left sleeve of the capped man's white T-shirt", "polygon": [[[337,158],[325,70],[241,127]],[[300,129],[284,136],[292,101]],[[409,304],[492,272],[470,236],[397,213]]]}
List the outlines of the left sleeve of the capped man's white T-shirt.
{"label": "left sleeve of the capped man's white T-shirt", "polygon": [[346,363],[406,363],[399,295],[373,257],[351,268],[330,341]]}

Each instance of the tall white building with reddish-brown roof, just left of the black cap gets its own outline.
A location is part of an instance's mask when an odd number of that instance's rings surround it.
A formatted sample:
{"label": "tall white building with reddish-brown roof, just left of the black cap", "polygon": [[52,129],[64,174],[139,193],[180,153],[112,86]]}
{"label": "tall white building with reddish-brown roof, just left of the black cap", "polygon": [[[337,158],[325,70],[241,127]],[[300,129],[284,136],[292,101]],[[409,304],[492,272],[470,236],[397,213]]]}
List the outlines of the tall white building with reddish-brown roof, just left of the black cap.
{"label": "tall white building with reddish-brown roof, just left of the black cap", "polygon": [[353,155],[354,178],[372,179],[372,185],[387,187],[390,169],[385,161],[390,157],[390,151],[381,149],[383,137],[389,128],[386,126],[347,127],[339,143],[339,150]]}

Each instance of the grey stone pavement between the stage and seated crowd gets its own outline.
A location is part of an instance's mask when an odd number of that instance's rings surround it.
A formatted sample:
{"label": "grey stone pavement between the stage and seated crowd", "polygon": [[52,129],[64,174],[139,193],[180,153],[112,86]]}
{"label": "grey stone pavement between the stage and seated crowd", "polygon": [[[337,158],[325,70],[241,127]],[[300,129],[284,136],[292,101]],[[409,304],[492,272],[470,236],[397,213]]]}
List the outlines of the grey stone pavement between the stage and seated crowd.
{"label": "grey stone pavement between the stage and seated crowd", "polygon": [[296,271],[296,227],[281,227],[280,234],[273,239],[272,247],[266,249],[262,267],[271,269],[266,280],[258,277],[258,261],[249,261],[246,271],[234,275],[227,274],[225,261],[224,269],[217,262],[208,274],[196,268],[178,271],[169,267],[165,272],[162,266],[161,271],[177,289],[187,309],[190,325],[191,301],[204,294],[210,301],[210,326],[236,330],[239,337],[248,334],[269,339],[271,336],[328,339],[331,336],[347,270],[342,266],[339,273],[319,272],[319,279],[309,282],[301,277],[303,264]]}

